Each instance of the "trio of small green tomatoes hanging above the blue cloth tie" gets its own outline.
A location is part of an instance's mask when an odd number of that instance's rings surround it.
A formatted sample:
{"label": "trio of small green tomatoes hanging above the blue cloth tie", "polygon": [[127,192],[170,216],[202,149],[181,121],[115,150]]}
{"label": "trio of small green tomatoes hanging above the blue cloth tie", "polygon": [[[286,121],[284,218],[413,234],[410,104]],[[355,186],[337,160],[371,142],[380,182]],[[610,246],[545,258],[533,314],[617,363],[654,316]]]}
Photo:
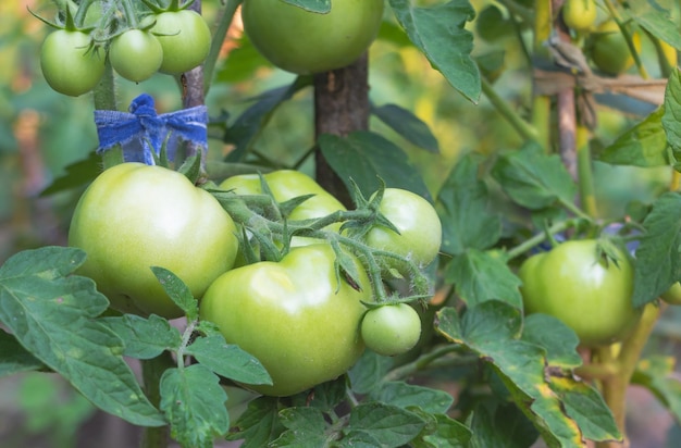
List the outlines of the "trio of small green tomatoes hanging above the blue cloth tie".
{"label": "trio of small green tomatoes hanging above the blue cloth tie", "polygon": [[97,86],[107,58],[119,75],[135,83],[157,72],[184,73],[203,62],[211,34],[200,14],[165,11],[151,20],[149,29],[126,29],[106,43],[96,42],[91,33],[79,29],[49,34],[40,52],[47,83],[60,94],[77,97]]}

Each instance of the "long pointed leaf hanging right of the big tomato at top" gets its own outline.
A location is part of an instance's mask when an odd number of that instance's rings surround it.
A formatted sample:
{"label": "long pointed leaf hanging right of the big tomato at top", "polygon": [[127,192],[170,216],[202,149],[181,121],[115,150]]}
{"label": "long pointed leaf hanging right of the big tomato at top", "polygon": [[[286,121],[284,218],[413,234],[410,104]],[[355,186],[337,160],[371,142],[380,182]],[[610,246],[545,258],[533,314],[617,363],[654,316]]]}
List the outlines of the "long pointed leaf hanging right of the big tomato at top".
{"label": "long pointed leaf hanging right of the big tomato at top", "polygon": [[481,92],[480,72],[470,53],[473,35],[466,23],[475,11],[468,1],[449,1],[431,8],[414,7],[409,0],[389,0],[399,24],[411,42],[451,86],[472,102]]}

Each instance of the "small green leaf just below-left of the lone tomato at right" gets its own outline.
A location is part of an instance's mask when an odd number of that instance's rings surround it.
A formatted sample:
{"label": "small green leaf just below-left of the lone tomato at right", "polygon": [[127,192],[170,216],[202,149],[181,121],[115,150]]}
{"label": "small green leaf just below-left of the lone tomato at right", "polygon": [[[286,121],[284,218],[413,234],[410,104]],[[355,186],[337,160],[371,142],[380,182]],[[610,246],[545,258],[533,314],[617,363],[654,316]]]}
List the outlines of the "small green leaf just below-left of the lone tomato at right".
{"label": "small green leaf just below-left of the lone tomato at right", "polygon": [[544,348],[548,365],[568,370],[582,365],[582,358],[577,352],[579,337],[572,328],[552,315],[537,313],[525,316],[521,339]]}

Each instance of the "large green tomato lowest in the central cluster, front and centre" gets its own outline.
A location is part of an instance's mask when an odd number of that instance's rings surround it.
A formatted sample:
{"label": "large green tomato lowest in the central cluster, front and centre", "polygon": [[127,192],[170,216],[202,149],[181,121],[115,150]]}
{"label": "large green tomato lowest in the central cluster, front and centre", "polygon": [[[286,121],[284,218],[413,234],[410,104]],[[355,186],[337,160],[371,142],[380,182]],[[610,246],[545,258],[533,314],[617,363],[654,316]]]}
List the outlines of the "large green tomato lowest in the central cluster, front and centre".
{"label": "large green tomato lowest in the central cluster, front and centre", "polygon": [[371,300],[371,285],[357,260],[361,290],[336,277],[334,262],[330,245],[304,246],[277,263],[228,271],[208,288],[201,319],[258,358],[272,376],[272,386],[249,388],[294,395],[336,378],[361,356],[361,301]]}

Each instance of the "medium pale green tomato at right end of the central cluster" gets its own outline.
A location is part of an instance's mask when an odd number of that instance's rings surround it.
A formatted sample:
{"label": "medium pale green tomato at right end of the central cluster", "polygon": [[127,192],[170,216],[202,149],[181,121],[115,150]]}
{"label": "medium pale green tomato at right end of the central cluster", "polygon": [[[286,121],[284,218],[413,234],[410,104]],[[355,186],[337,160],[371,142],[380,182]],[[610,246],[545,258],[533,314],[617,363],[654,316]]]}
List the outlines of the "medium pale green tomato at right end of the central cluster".
{"label": "medium pale green tomato at right end of the central cluster", "polygon": [[[442,224],[437,212],[421,196],[399,189],[386,188],[379,211],[399,231],[376,225],[364,236],[367,245],[400,254],[420,267],[430,264],[442,245]],[[405,266],[388,259],[389,267],[408,275]]]}

